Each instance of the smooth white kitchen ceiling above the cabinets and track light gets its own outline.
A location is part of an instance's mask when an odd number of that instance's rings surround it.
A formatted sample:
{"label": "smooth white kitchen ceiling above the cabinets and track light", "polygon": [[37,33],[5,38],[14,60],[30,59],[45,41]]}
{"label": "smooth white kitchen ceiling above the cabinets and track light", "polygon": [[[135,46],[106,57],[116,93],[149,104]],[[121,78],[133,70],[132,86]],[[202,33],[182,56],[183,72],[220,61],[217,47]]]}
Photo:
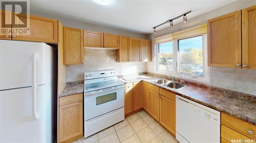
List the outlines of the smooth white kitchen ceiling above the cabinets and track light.
{"label": "smooth white kitchen ceiling above the cabinets and track light", "polygon": [[[112,4],[101,6],[92,0],[31,0],[32,13],[63,17],[82,22],[115,27],[141,34],[150,34],[152,27],[189,10],[189,19],[219,8],[234,0],[112,0]],[[182,17],[174,24],[182,21]],[[158,28],[167,27],[165,24]]]}

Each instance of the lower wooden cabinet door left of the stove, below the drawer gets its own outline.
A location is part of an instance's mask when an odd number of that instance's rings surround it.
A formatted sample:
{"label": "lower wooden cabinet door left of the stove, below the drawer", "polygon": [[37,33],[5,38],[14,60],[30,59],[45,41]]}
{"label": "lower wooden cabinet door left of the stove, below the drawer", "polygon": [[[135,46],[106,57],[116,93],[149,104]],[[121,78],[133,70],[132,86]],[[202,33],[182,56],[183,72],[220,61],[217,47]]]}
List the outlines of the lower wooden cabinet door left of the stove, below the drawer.
{"label": "lower wooden cabinet door left of the stove, below the drawer", "polygon": [[82,102],[59,107],[59,140],[60,142],[82,134]]}

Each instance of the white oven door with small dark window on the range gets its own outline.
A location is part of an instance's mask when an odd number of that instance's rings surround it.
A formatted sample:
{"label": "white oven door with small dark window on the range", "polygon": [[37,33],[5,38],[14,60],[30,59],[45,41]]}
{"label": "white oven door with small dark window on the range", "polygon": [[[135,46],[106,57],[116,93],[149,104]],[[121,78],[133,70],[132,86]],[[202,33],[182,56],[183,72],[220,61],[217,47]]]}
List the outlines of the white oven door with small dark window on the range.
{"label": "white oven door with small dark window on the range", "polygon": [[123,85],[84,93],[84,120],[88,121],[123,106]]}

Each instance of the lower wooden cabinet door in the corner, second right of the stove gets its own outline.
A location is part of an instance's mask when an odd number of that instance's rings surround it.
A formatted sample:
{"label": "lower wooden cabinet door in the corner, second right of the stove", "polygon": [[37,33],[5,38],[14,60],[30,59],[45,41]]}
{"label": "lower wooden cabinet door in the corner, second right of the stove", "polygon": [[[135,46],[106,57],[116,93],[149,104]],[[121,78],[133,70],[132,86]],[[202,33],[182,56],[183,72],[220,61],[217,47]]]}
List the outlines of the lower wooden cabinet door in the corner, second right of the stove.
{"label": "lower wooden cabinet door in the corner, second right of the stove", "polygon": [[133,82],[133,110],[143,107],[142,81]]}

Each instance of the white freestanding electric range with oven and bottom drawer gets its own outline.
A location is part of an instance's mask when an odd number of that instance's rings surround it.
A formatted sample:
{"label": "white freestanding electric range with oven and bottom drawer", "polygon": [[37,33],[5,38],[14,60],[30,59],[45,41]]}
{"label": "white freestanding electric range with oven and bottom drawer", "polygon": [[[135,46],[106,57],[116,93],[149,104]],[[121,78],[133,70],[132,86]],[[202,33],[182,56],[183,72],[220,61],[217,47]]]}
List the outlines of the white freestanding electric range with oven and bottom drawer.
{"label": "white freestanding electric range with oven and bottom drawer", "polygon": [[124,120],[124,83],[116,70],[84,73],[84,138]]}

